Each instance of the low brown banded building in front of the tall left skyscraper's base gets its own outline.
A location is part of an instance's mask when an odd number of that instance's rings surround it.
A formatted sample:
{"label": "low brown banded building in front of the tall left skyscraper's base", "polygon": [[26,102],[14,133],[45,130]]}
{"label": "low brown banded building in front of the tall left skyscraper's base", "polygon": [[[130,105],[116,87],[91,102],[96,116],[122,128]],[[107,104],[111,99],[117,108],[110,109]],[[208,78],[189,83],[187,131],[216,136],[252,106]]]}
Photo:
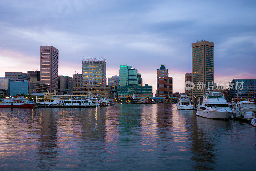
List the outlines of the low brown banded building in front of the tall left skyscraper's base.
{"label": "low brown banded building in front of the tall left skyscraper's base", "polygon": [[48,93],[50,85],[43,81],[28,81],[28,94],[32,93]]}

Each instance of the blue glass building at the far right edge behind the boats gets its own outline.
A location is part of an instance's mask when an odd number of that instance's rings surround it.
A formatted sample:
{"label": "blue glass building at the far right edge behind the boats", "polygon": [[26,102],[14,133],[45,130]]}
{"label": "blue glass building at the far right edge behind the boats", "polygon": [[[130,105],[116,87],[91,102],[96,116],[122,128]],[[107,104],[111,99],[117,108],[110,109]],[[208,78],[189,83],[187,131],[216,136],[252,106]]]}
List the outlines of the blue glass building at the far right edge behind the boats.
{"label": "blue glass building at the far right edge behind the boats", "polygon": [[232,98],[236,98],[236,92],[238,93],[239,98],[246,98],[247,100],[251,100],[255,97],[256,79],[233,79],[232,82],[229,82],[228,89],[229,100],[232,100]]}

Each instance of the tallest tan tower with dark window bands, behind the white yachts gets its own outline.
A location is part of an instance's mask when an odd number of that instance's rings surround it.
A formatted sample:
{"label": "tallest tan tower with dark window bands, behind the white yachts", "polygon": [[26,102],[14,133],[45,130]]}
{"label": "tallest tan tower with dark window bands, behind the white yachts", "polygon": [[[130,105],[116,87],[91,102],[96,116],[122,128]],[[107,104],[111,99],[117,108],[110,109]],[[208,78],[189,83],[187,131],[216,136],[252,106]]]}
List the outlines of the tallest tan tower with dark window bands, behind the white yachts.
{"label": "tallest tan tower with dark window bands, behind the white yachts", "polygon": [[[192,47],[192,101],[203,96],[207,88],[213,89],[213,42],[200,41],[191,44]],[[202,86],[201,86],[202,85]]]}

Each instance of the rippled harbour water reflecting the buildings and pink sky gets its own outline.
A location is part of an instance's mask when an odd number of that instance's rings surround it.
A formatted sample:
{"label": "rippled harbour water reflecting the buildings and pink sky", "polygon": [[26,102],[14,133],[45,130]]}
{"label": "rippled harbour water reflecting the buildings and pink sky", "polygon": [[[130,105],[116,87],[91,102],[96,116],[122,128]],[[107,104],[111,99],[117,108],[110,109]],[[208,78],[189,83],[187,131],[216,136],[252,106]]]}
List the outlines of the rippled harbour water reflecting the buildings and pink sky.
{"label": "rippled harbour water reflecting the buildings and pink sky", "polygon": [[172,104],[0,108],[0,170],[255,170],[256,127]]}

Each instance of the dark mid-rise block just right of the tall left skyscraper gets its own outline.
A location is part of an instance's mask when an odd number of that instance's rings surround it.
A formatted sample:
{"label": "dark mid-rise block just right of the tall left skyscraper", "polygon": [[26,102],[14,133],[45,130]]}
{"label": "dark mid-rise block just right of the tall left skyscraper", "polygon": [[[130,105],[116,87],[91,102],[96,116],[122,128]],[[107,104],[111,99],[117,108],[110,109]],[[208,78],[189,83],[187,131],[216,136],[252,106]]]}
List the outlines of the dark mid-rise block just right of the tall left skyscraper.
{"label": "dark mid-rise block just right of the tall left skyscraper", "polygon": [[73,79],[72,77],[58,76],[58,94],[72,94]]}

